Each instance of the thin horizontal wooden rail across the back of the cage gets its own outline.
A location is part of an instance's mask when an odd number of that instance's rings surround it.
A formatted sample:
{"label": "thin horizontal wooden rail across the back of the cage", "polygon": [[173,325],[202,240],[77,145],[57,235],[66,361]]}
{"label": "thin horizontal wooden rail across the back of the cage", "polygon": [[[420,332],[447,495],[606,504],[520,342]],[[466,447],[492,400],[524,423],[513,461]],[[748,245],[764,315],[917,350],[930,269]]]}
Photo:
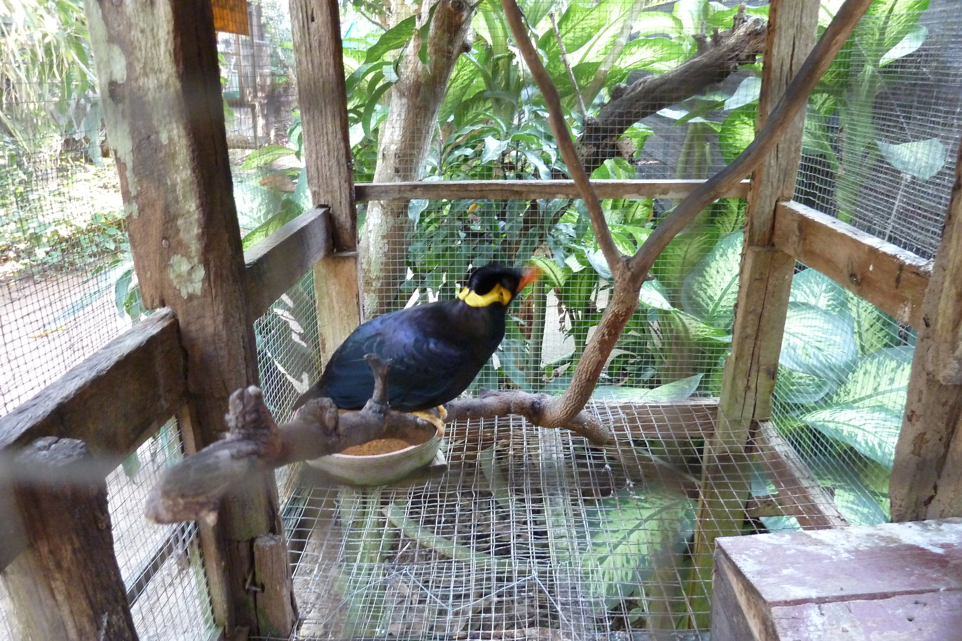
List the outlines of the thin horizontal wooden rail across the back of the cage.
{"label": "thin horizontal wooden rail across the back of the cage", "polygon": [[[592,181],[598,198],[671,198],[687,196],[701,180],[684,181]],[[735,185],[722,198],[746,198],[749,181]],[[358,202],[369,200],[533,200],[579,198],[574,181],[431,181],[410,183],[358,183]]]}

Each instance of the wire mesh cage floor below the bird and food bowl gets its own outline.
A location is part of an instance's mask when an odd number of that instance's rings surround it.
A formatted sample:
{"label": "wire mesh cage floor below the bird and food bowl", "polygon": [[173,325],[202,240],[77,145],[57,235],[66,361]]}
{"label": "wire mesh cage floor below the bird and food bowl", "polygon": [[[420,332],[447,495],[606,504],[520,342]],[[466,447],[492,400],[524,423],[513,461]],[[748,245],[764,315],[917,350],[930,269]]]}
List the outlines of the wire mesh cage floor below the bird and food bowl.
{"label": "wire mesh cage floor below the bird and food bowl", "polygon": [[713,407],[595,404],[604,450],[456,424],[446,472],[386,487],[306,470],[286,509],[298,638],[700,638],[683,581]]}

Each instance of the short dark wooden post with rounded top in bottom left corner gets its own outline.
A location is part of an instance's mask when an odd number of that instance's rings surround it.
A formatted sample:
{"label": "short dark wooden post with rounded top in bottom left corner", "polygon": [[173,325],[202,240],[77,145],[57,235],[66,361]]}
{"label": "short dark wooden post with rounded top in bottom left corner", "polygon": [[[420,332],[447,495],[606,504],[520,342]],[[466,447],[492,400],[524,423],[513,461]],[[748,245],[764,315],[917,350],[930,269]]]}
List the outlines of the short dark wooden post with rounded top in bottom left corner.
{"label": "short dark wooden post with rounded top in bottom left corner", "polygon": [[[48,436],[14,463],[14,493],[29,541],[2,578],[22,641],[137,640],[114,555],[105,481],[91,476],[83,441]],[[97,479],[102,479],[99,475]]]}

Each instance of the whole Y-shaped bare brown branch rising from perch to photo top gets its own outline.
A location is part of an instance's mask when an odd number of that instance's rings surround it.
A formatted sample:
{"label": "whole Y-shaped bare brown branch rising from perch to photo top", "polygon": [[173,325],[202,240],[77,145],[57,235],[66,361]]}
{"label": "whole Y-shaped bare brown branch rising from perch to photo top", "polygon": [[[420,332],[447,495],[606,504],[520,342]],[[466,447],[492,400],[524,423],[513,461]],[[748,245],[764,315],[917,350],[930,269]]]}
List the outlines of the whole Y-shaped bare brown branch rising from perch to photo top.
{"label": "whole Y-shaped bare brown branch rising from perch to photo top", "polygon": [[[641,286],[645,283],[648,270],[655,259],[668,246],[671,239],[692,222],[699,211],[704,210],[712,201],[718,199],[726,189],[741,181],[772,151],[786,126],[797,116],[798,111],[804,109],[808,102],[808,94],[822,78],[828,65],[838,54],[842,45],[845,44],[846,39],[870,4],[871,0],[846,0],[835,14],[831,24],[828,25],[823,37],[809,54],[795,80],[779,101],[778,106],[769,115],[764,129],[755,136],[745,152],[721,172],[690,193],[647,237],[634,257],[622,259],[617,248],[613,246],[611,234],[585,168],[576,159],[574,145],[564,121],[561,103],[558,100],[558,93],[551,84],[550,78],[544,70],[544,64],[542,64],[531,39],[527,35],[518,5],[515,0],[501,0],[508,25],[511,27],[512,36],[515,38],[524,61],[527,62],[531,70],[531,75],[544,95],[551,129],[557,139],[558,147],[562,151],[562,156],[568,164],[571,178],[577,185],[578,191],[591,214],[595,237],[598,239],[598,244],[605,259],[608,260],[614,277],[612,297],[604,310],[594,336],[592,336],[585,349],[584,356],[578,361],[569,388],[561,398],[551,400],[546,407],[542,408],[539,412],[541,418],[539,425],[543,427],[567,425],[585,407],[585,404],[591,398],[595,383],[604,368],[605,362],[614,349],[624,326],[638,306]],[[714,47],[716,53],[721,54],[723,51],[728,51],[724,54],[727,57],[725,60],[736,66],[742,63],[739,61],[743,60],[743,58],[740,58],[743,54],[736,55],[734,51],[725,49],[725,46],[733,40],[735,33],[740,29],[747,29],[748,25],[753,22],[747,21],[743,14],[736,21],[732,30],[726,32],[729,34],[727,39],[716,34],[713,37],[713,42],[718,41],[718,46]],[[756,28],[758,28],[757,25],[751,27],[752,30]],[[762,36],[759,35],[758,37]],[[707,42],[706,45],[708,45]],[[758,45],[759,50],[763,46],[764,38],[762,43]],[[712,49],[713,47],[708,46],[706,51],[696,57],[695,60],[702,56],[709,56]],[[659,107],[659,109],[661,108]],[[608,111],[608,113],[611,112],[611,110]],[[610,246],[609,243],[611,243]],[[495,392],[493,395],[496,394],[498,393]],[[517,394],[517,392],[501,392],[500,394]]]}

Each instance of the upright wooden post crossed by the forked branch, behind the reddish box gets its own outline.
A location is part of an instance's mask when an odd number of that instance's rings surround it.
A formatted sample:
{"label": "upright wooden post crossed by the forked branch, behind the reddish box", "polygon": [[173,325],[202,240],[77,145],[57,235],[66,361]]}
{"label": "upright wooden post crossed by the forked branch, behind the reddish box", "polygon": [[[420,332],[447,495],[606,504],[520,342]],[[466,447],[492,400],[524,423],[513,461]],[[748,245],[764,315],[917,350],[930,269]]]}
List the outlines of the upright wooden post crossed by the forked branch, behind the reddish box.
{"label": "upright wooden post crossed by the forked branch, behind the reddish box", "polygon": [[[815,46],[818,0],[772,0],[758,102],[765,119]],[[707,627],[715,538],[737,535],[750,494],[747,442],[752,422],[769,418],[795,259],[772,245],[775,205],[792,198],[801,156],[804,111],[752,176],[745,222],[732,351],[725,363],[716,432],[705,442],[698,499],[693,605]]]}

